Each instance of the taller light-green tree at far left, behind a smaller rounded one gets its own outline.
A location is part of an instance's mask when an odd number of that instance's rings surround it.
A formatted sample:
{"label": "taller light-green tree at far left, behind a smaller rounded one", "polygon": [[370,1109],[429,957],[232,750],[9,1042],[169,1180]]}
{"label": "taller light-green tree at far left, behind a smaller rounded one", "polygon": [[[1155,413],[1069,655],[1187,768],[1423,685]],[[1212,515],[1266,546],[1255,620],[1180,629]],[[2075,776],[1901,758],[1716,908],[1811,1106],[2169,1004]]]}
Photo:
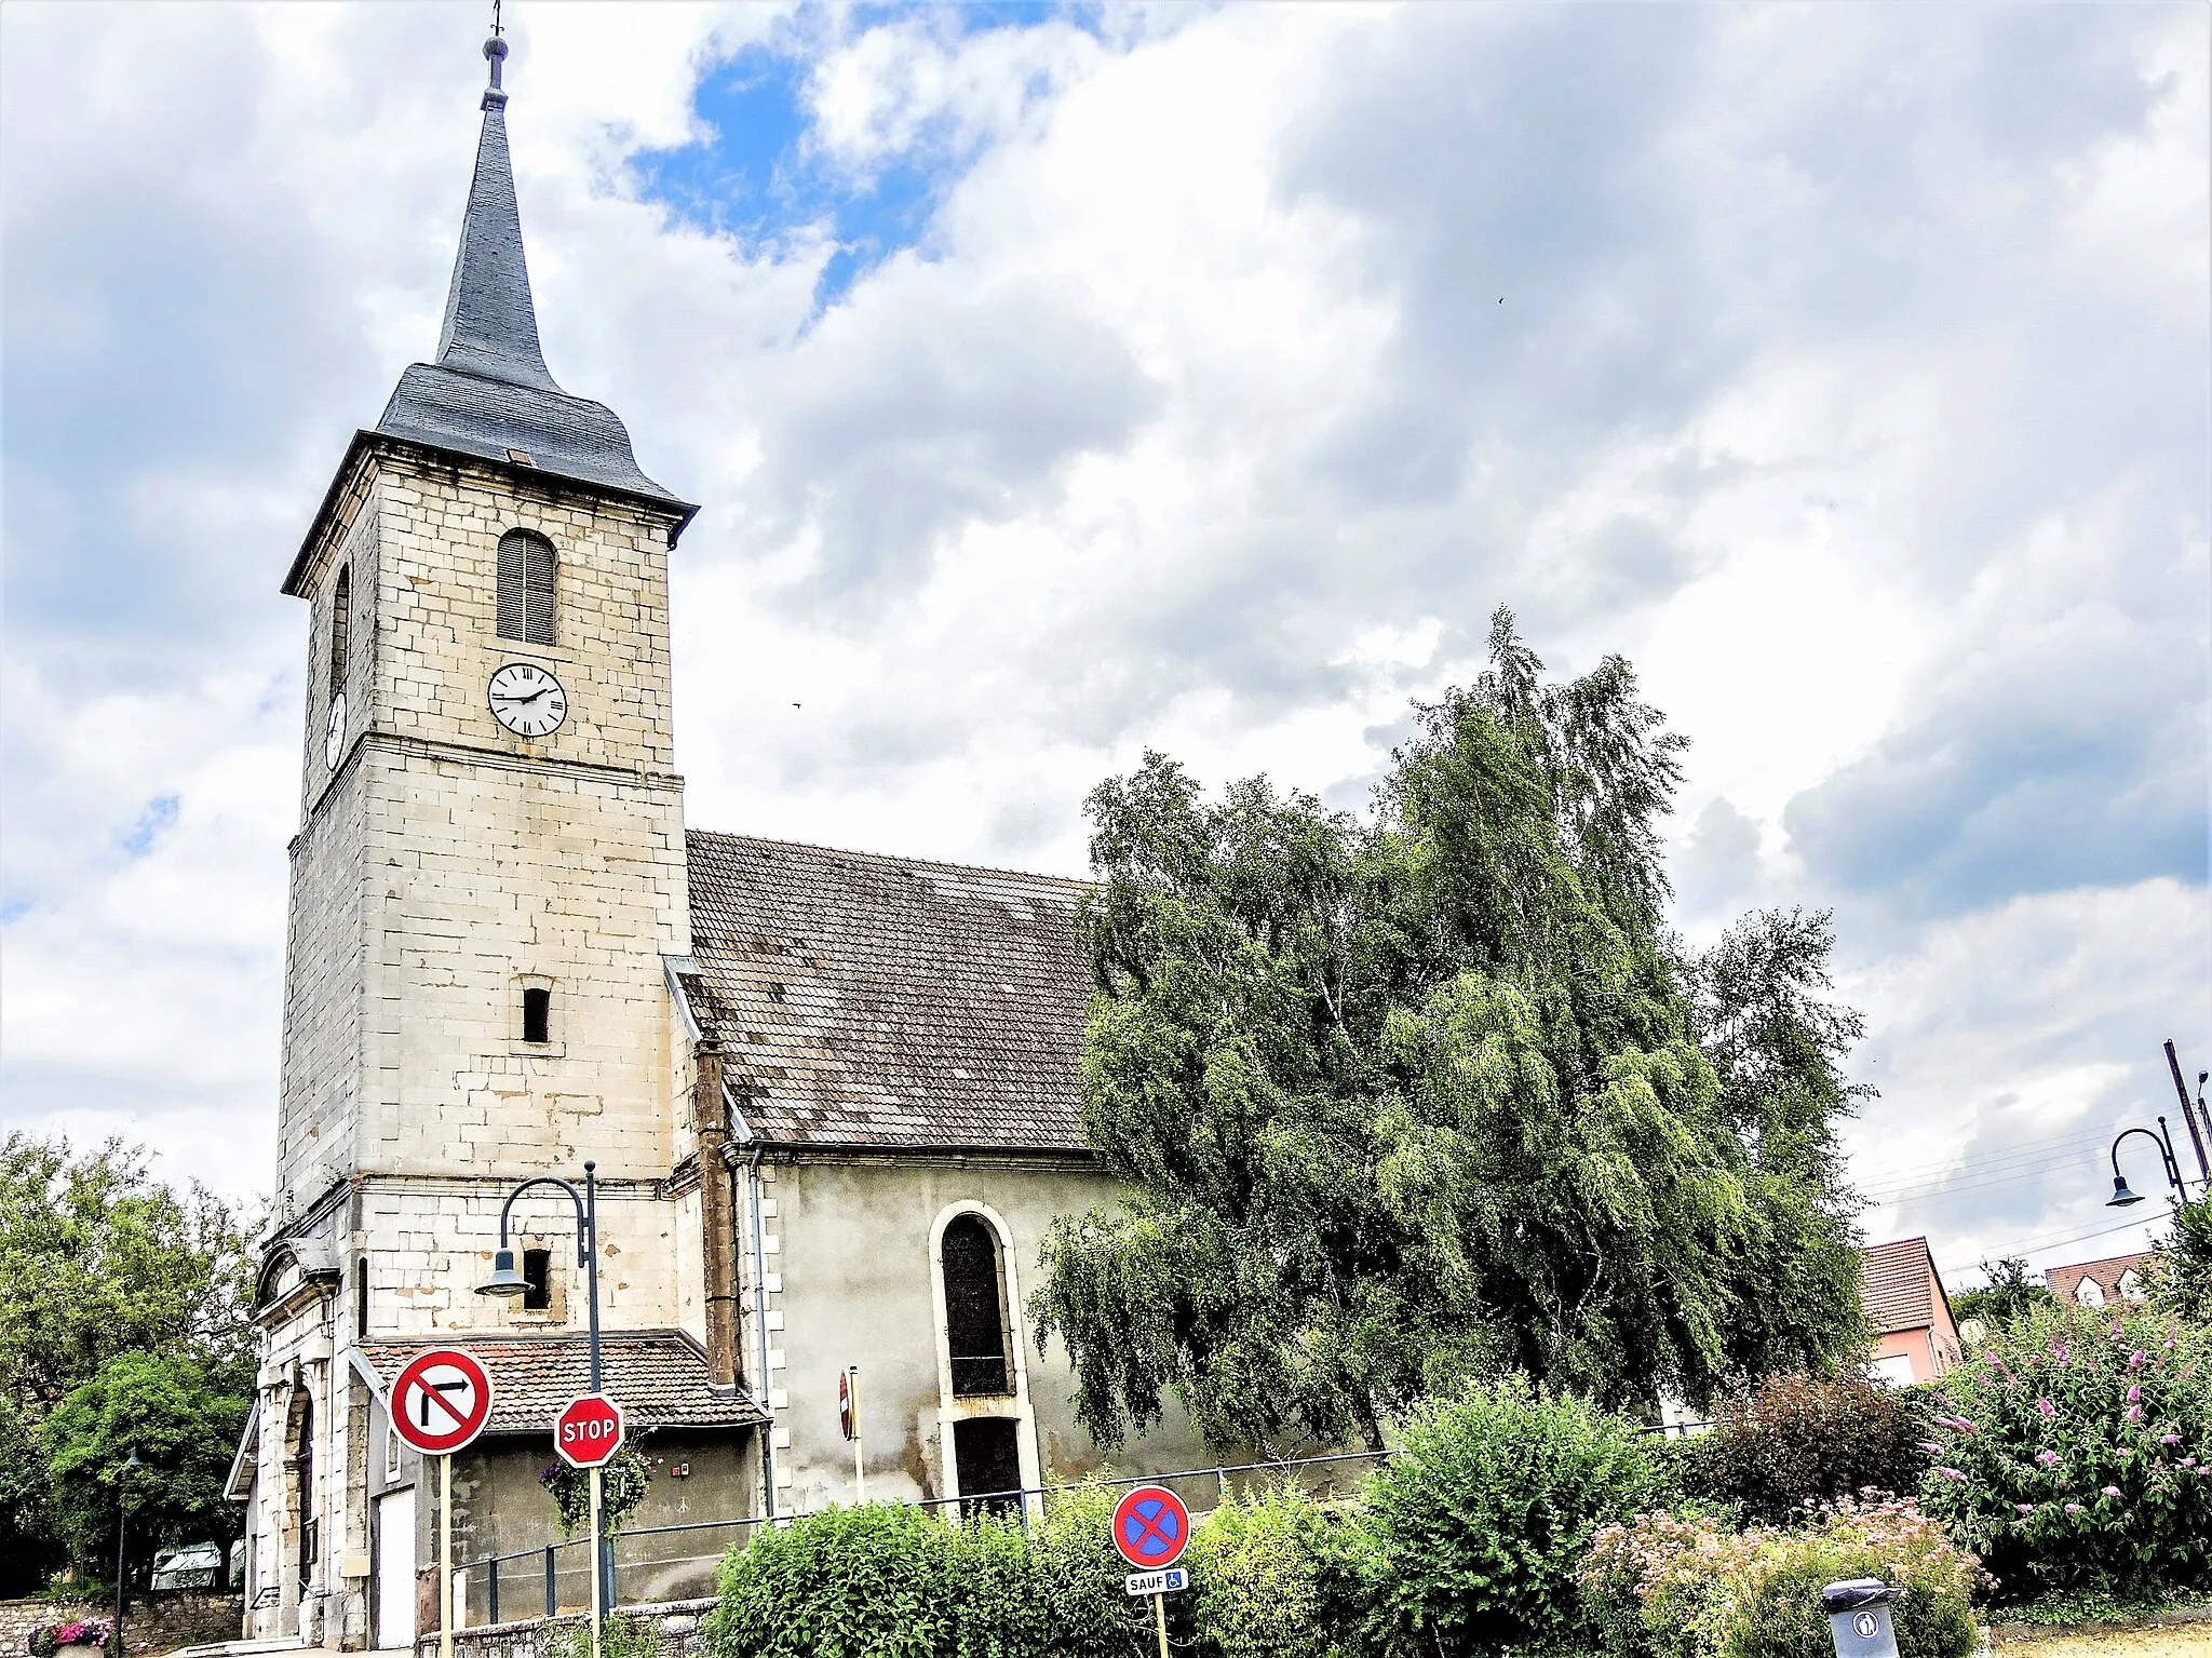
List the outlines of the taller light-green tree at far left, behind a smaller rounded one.
{"label": "taller light-green tree at far left, behind a smaller rounded one", "polygon": [[62,1399],[128,1355],[177,1360],[215,1399],[237,1397],[250,1300],[248,1225],[206,1187],[161,1185],[117,1141],[82,1156],[60,1138],[0,1141],[0,1592],[58,1565],[58,1528],[84,1499],[46,1466],[42,1424]]}

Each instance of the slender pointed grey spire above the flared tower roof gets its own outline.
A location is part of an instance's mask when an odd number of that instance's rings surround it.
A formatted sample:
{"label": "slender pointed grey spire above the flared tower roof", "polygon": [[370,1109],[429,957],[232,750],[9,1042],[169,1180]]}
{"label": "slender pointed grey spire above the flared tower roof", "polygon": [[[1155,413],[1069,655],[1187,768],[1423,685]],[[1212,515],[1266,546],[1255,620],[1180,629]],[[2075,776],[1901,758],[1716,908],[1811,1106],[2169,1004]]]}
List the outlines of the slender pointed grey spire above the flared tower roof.
{"label": "slender pointed grey spire above the flared tower roof", "polygon": [[484,130],[476,141],[476,177],[469,181],[469,210],[460,219],[453,285],[445,294],[438,367],[557,391],[538,345],[538,307],[531,303],[531,272],[522,259],[522,210],[515,206],[507,93],[500,86],[507,40],[498,11],[484,57],[491,62]]}

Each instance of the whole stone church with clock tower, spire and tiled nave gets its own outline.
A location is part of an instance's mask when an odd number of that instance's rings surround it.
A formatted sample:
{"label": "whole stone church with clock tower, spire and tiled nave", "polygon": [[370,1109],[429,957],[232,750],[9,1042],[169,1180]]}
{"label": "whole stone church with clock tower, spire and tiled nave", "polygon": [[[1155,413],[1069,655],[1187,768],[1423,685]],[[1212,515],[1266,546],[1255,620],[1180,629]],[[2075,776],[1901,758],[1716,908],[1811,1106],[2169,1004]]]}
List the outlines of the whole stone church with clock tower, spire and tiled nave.
{"label": "whole stone church with clock tower, spire and tiled nave", "polygon": [[[540,1472],[588,1391],[653,1468],[624,1603],[699,1594],[743,1523],[1104,1466],[1024,1298],[1084,1145],[1079,882],[684,822],[668,562],[697,506],[538,343],[504,40],[436,360],[358,431],[283,575],[307,606],[276,1225],[254,1318],[246,1636],[436,1620],[436,1481],[392,1430],[425,1349],[491,1419],[453,1457],[467,1623],[588,1601]],[[858,1468],[841,1377],[858,1375]],[[1210,1461],[1168,1417],[1117,1472]],[[648,1532],[728,1521],[717,1530]],[[493,1587],[504,1556],[504,1607]],[[544,1567],[538,1561],[544,1559]]]}

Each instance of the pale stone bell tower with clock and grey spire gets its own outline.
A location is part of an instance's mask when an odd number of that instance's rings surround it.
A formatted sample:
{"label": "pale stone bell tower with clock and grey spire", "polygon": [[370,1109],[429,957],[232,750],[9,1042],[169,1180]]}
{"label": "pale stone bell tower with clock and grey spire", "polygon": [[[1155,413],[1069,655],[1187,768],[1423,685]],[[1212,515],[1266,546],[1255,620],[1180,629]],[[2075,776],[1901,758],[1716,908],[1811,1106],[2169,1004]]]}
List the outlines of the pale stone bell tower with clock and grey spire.
{"label": "pale stone bell tower with clock and grey spire", "polygon": [[312,626],[276,1203],[294,1231],[347,1207],[363,1333],[504,1326],[453,1282],[476,1234],[586,1156],[608,1253],[635,1251],[608,1322],[675,1322],[646,1196],[672,1163],[661,957],[690,937],[668,553],[697,508],[546,369],[507,42],[484,53],[436,360],[354,436],[283,584]]}

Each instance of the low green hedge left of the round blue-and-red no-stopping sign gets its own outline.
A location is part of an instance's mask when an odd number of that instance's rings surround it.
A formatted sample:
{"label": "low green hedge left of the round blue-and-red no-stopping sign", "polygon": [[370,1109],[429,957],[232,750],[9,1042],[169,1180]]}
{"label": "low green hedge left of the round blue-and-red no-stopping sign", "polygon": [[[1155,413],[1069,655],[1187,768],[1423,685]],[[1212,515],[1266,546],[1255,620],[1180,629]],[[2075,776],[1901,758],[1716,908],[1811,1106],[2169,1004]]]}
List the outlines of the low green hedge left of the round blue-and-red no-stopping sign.
{"label": "low green hedge left of the round blue-and-red no-stopping sign", "polygon": [[730,1550],[712,1658],[1141,1658],[1144,1609],[1106,1539],[1113,1497],[1077,1492],[1024,1536],[920,1508],[834,1508]]}

